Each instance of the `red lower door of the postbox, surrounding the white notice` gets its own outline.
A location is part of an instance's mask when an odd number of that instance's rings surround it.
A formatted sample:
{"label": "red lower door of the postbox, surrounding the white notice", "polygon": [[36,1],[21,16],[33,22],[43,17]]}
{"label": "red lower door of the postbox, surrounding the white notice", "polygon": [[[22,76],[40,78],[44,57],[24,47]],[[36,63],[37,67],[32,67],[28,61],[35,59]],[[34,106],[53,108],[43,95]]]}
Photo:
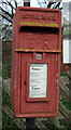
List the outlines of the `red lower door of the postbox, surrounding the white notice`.
{"label": "red lower door of the postbox, surrounding the white notice", "polygon": [[[56,87],[58,86],[56,80],[58,77],[56,77],[57,70],[55,70],[57,55],[47,54],[46,56],[48,56],[48,58],[42,61],[32,60],[32,56],[33,54],[29,53],[22,54],[20,56],[20,113],[41,114],[41,116],[44,115],[44,113],[52,113],[52,115],[54,115],[57,109],[56,93],[58,91],[58,87]],[[24,58],[26,58],[26,61]]]}

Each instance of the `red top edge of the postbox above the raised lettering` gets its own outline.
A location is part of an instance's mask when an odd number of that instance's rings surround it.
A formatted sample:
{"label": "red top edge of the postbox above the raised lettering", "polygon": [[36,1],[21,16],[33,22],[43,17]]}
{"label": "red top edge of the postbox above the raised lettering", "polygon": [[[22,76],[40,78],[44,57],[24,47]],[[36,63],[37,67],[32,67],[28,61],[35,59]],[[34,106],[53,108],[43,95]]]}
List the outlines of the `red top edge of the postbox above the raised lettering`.
{"label": "red top edge of the postbox above the raised lettering", "polygon": [[45,8],[30,8],[30,6],[18,6],[17,11],[38,11],[38,12],[61,12],[59,9],[45,9]]}

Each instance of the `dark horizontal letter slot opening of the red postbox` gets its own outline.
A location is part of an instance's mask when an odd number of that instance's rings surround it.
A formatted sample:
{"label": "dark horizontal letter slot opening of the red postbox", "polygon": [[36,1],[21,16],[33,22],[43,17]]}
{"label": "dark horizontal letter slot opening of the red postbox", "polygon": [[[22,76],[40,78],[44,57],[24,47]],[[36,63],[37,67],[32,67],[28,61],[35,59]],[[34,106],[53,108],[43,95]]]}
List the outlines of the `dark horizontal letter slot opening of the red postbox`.
{"label": "dark horizontal letter slot opening of the red postbox", "polygon": [[33,32],[46,32],[46,34],[58,34],[59,28],[54,28],[54,27],[27,27],[27,26],[22,26],[19,29],[20,32],[23,31],[33,31]]}

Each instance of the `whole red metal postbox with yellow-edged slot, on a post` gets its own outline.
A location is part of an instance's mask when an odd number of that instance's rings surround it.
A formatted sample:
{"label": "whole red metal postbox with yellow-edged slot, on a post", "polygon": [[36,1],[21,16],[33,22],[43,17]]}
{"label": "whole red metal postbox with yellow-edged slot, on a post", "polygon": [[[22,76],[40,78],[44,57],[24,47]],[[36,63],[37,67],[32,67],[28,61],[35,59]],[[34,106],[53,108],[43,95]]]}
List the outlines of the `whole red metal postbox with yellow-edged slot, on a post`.
{"label": "whole red metal postbox with yellow-edged slot, on a post", "polygon": [[12,105],[16,117],[58,113],[61,11],[17,8],[13,22]]}

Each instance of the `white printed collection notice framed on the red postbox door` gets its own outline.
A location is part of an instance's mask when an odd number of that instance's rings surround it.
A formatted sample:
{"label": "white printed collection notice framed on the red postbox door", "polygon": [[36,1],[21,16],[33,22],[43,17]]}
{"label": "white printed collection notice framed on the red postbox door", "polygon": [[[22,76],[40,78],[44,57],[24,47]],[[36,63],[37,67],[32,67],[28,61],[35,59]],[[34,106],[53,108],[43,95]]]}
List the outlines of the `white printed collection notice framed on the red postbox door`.
{"label": "white printed collection notice framed on the red postbox door", "polygon": [[29,98],[46,98],[47,64],[30,64]]}

